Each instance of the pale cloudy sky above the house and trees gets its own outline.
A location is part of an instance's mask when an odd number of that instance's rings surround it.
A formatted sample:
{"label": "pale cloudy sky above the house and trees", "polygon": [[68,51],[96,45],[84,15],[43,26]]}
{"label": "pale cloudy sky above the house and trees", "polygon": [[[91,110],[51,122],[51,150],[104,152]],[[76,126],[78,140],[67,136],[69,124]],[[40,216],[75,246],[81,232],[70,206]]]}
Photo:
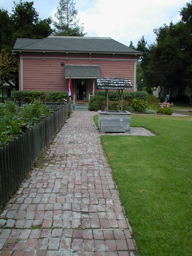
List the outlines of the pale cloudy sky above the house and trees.
{"label": "pale cloudy sky above the house and trees", "polygon": [[[31,2],[32,0],[28,0]],[[54,18],[59,0],[33,0],[39,17]],[[16,3],[19,0],[15,0]],[[86,36],[111,37],[134,46],[144,35],[148,44],[155,41],[154,28],[180,20],[179,12],[186,0],[74,0],[80,24]],[[12,0],[0,0],[0,8],[11,13]]]}

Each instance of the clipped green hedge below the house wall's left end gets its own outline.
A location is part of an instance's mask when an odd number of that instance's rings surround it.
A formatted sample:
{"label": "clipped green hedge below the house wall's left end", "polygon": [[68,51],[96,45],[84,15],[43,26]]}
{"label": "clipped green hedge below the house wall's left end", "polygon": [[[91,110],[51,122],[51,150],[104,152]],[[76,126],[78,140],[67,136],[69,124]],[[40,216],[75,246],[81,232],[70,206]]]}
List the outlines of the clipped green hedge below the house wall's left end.
{"label": "clipped green hedge below the house wall's left end", "polygon": [[14,91],[12,92],[12,99],[23,101],[23,102],[33,102],[34,99],[44,101],[46,97],[46,92],[44,91]]}

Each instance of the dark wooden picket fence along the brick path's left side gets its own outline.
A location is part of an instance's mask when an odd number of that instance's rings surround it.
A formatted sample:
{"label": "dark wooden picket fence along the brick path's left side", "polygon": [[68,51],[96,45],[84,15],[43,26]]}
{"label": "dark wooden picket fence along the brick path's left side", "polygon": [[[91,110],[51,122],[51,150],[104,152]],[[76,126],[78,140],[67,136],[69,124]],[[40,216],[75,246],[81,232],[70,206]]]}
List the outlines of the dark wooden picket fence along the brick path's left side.
{"label": "dark wooden picket fence along the brick path's left side", "polygon": [[16,193],[36,159],[68,118],[70,102],[0,148],[0,206]]}

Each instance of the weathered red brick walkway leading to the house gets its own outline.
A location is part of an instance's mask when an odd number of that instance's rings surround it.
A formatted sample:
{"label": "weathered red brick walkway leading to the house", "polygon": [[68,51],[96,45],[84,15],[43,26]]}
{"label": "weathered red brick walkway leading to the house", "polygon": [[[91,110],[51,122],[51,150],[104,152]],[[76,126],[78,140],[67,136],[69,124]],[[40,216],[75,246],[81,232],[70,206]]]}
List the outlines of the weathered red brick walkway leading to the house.
{"label": "weathered red brick walkway leading to the house", "polygon": [[0,215],[0,256],[133,256],[94,112],[74,111]]}

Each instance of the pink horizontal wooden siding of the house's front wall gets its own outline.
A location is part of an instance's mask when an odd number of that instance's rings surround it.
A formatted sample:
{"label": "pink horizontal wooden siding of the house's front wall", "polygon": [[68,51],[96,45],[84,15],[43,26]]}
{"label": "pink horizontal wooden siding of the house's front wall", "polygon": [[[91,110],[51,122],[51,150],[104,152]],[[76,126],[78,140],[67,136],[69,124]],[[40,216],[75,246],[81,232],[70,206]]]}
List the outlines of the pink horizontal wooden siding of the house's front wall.
{"label": "pink horizontal wooden siding of the house's front wall", "polygon": [[[130,78],[134,84],[134,56],[128,54],[30,54],[22,53],[23,79],[20,90],[68,90],[64,65],[99,65],[101,76]],[[21,73],[22,72],[22,73]],[[74,89],[75,80],[72,79]],[[93,91],[93,79],[89,79],[89,93]],[[132,89],[133,90],[133,89]],[[96,92],[96,80],[95,80]]]}

